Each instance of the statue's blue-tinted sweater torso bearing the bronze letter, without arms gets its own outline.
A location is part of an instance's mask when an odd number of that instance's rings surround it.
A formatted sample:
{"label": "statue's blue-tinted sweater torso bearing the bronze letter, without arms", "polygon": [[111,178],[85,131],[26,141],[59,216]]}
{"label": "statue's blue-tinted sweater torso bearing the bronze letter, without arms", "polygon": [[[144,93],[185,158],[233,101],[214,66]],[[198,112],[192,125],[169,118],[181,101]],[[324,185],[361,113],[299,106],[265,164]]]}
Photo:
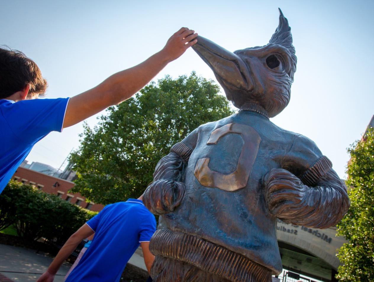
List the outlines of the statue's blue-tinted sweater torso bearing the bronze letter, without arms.
{"label": "statue's blue-tinted sweater torso bearing the bronze letter, without arms", "polygon": [[199,236],[280,272],[276,218],[267,208],[263,177],[280,167],[294,136],[253,112],[200,126],[185,172],[185,196],[163,216],[161,228]]}

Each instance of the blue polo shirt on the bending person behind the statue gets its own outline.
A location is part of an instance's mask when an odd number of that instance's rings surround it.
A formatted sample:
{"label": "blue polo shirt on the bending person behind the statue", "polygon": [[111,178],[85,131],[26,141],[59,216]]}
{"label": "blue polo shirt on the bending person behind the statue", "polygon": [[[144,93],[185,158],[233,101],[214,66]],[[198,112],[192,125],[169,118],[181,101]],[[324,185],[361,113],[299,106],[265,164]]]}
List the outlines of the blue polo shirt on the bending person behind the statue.
{"label": "blue polo shirt on the bending person behind the statue", "polygon": [[150,241],[156,231],[153,214],[137,199],[107,205],[86,224],[95,236],[67,282],[119,281],[140,242]]}

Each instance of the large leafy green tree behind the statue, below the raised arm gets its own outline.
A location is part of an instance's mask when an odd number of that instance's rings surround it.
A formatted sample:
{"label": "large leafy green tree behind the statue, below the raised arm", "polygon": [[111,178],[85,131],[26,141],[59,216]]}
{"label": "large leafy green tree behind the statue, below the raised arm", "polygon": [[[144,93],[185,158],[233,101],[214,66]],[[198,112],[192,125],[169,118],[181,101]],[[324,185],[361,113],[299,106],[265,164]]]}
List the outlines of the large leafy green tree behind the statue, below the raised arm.
{"label": "large leafy green tree behind the statue, below the raised arm", "polygon": [[199,125],[233,114],[219,91],[192,72],[175,80],[166,76],[110,107],[94,128],[85,125],[70,157],[78,176],[73,192],[101,204],[140,196],[172,145]]}

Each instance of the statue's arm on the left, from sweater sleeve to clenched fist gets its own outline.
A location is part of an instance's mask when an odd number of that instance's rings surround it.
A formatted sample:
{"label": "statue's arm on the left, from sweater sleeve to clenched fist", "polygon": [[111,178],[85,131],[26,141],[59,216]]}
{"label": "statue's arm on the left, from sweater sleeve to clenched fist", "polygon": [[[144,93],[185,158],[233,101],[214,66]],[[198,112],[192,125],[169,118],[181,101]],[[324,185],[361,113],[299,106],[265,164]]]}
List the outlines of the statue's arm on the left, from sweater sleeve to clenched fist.
{"label": "statue's arm on the left, from sweater sleeve to clenched fist", "polygon": [[153,174],[153,182],[144,192],[144,205],[153,214],[174,211],[184,196],[184,169],[196,146],[198,129],[192,131],[182,142],[170,149],[170,153],[160,159]]}

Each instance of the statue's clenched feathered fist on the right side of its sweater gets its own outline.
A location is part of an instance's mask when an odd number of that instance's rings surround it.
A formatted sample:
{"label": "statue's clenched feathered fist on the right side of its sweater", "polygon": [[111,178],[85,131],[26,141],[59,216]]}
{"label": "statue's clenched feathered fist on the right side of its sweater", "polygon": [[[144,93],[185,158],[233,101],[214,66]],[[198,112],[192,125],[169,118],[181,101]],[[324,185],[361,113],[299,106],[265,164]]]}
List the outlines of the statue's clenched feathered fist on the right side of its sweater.
{"label": "statue's clenched feathered fist on the right side of its sweater", "polygon": [[264,180],[269,210],[283,221],[296,217],[303,210],[302,206],[309,204],[303,201],[309,186],[288,170],[273,168]]}

